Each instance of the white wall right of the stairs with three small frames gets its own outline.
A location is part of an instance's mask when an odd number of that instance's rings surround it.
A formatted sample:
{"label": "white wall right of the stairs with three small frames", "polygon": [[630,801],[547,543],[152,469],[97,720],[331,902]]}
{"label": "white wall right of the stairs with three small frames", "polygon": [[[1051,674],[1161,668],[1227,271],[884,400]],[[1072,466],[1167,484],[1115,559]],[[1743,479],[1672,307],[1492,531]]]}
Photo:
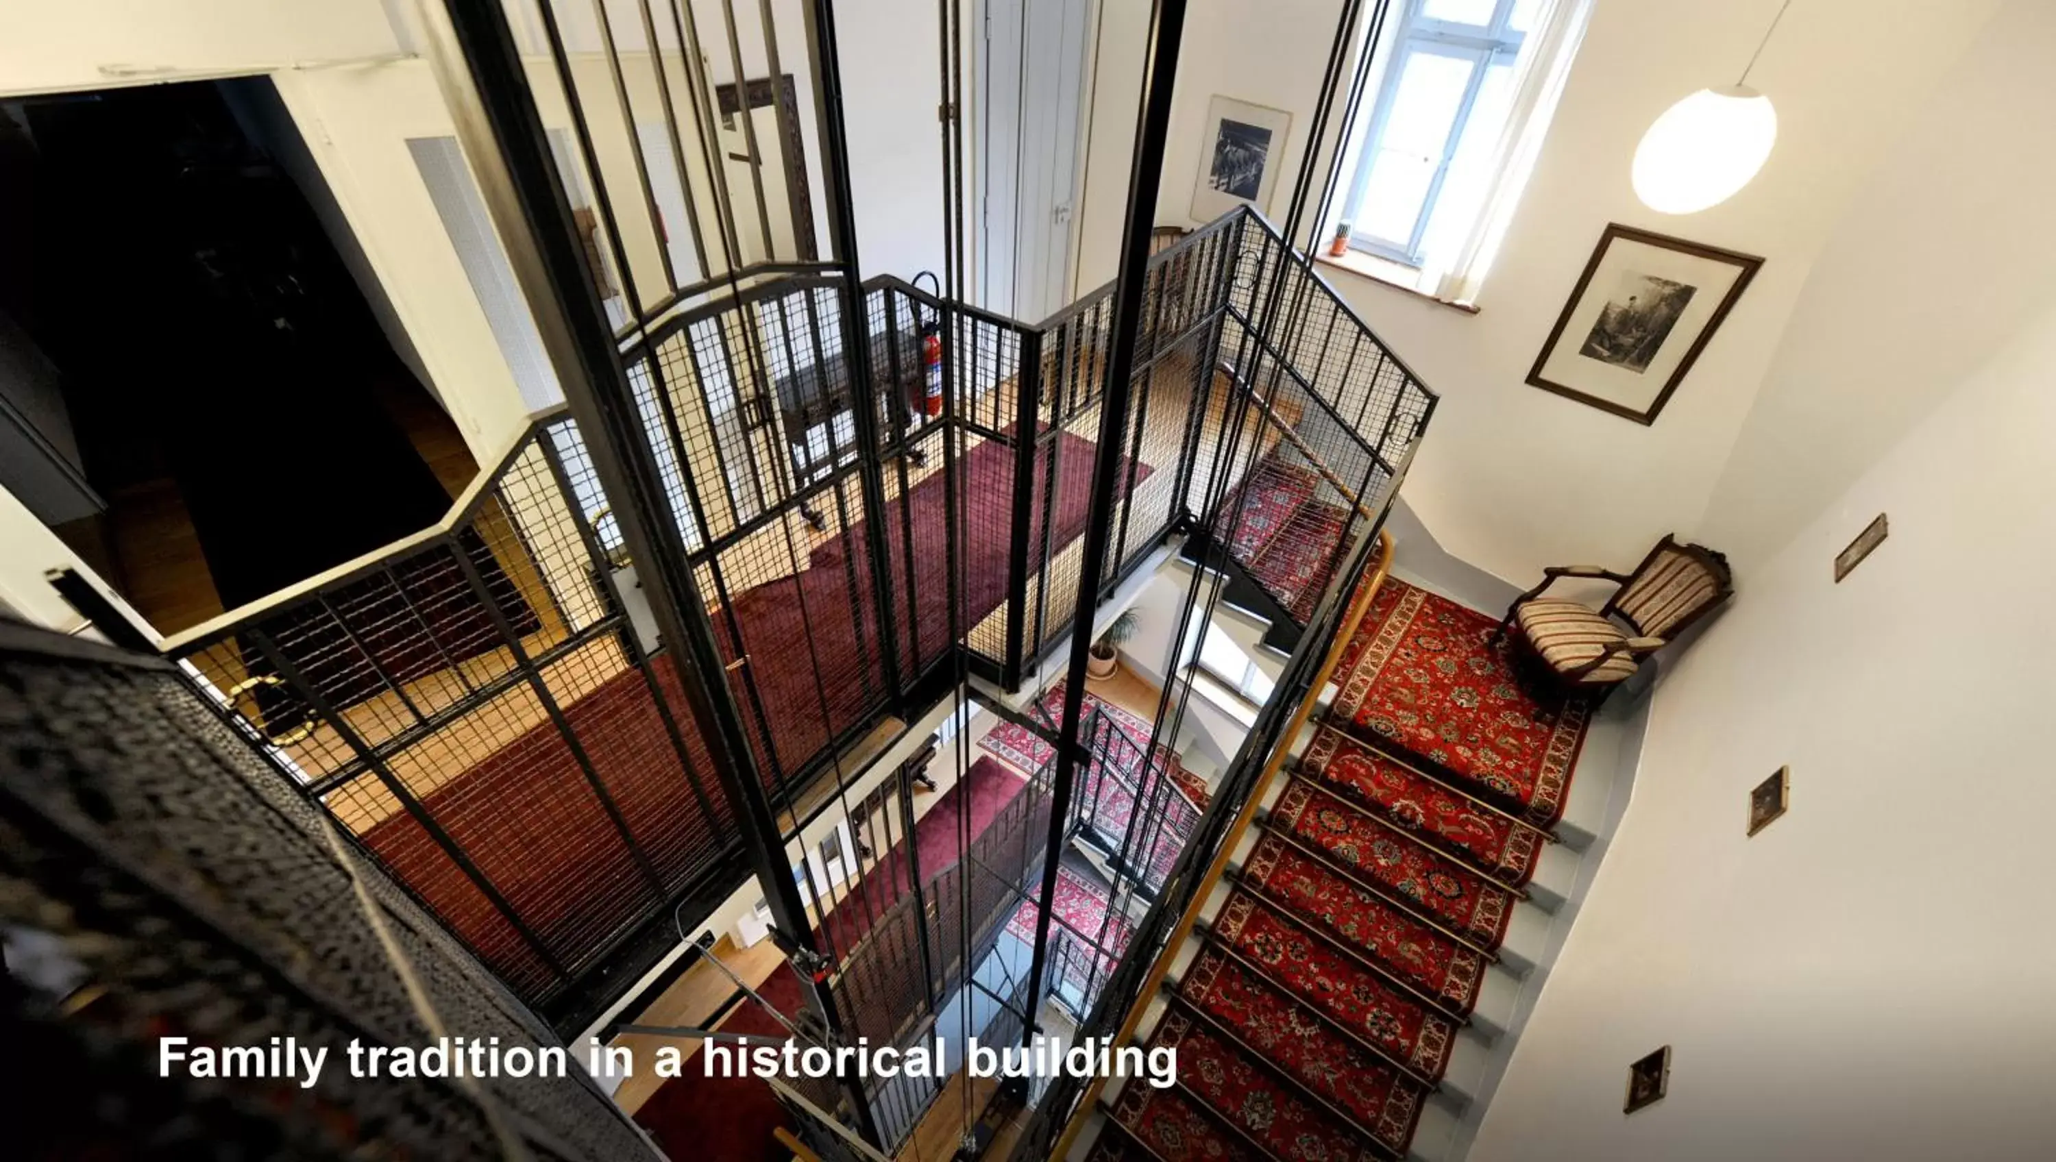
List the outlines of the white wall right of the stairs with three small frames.
{"label": "white wall right of the stairs with three small frames", "polygon": [[[1875,216],[1852,214],[1877,251],[1933,259],[1935,210],[1961,208],[1947,226],[1959,278],[1933,261],[1822,259],[1852,315],[1902,298],[1883,329],[1826,304],[1803,315],[1807,364],[1879,383],[1889,415],[1791,496],[1717,498],[1713,522],[1774,551],[1657,685],[1635,800],[1476,1162],[2056,1156],[2042,858],[2056,812],[2042,730],[2056,292],[2013,269],[2050,269],[2035,218],[2056,173],[2011,158],[2056,103],[2050,49],[2048,8],[2009,6],[1945,88],[1937,109],[1957,119],[1916,125],[1902,152],[1941,179],[1885,179],[1867,195]],[[1922,187],[1933,202],[1914,197]],[[2000,255],[2009,239],[2027,253]],[[1972,325],[1957,300],[1984,269],[1998,294]],[[1844,282],[1863,274],[1877,286]],[[1929,319],[1963,339],[1953,358],[1908,335]],[[1918,391],[1875,352],[1898,341]],[[1832,440],[1822,417],[1799,420]],[[1834,584],[1834,553],[1877,512],[1892,537]],[[1797,535],[1778,547],[1787,526]],[[1748,788],[1785,763],[1791,814],[1748,839]],[[1669,1096],[1622,1117],[1626,1063],[1665,1043]]]}

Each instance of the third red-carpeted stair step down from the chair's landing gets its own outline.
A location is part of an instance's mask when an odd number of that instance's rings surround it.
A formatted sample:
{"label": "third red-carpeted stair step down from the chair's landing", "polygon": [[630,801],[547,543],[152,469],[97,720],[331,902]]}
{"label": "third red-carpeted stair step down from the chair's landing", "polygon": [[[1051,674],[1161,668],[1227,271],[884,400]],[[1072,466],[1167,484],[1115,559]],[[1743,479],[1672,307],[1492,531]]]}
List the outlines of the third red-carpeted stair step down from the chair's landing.
{"label": "third red-carpeted stair step down from the chair's landing", "polygon": [[1271,833],[1242,868],[1244,886],[1361,952],[1452,1018],[1470,1016],[1489,956],[1365,891]]}

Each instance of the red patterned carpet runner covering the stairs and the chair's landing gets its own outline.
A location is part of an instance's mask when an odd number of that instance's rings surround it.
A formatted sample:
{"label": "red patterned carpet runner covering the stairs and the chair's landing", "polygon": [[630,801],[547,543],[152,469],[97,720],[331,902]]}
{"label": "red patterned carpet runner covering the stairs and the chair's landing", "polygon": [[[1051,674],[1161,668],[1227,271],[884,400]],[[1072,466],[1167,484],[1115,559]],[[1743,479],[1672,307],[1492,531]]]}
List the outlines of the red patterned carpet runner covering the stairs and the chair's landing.
{"label": "red patterned carpet runner covering the stairs and the chair's landing", "polygon": [[1493,625],[1378,594],[1338,670],[1357,736],[1316,730],[1151,1034],[1180,1084],[1129,1082],[1092,1158],[1406,1156],[1585,730],[1521,691]]}

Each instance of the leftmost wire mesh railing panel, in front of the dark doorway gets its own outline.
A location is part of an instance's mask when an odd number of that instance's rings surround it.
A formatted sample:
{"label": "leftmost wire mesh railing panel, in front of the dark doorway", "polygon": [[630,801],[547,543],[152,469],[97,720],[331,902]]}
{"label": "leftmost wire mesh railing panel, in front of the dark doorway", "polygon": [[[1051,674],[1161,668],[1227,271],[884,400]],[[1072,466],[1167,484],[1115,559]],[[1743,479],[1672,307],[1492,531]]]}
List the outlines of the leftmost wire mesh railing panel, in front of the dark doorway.
{"label": "leftmost wire mesh railing panel, in front of the dark doorway", "polygon": [[175,650],[530,1004],[732,874],[732,819],[570,420],[442,531]]}

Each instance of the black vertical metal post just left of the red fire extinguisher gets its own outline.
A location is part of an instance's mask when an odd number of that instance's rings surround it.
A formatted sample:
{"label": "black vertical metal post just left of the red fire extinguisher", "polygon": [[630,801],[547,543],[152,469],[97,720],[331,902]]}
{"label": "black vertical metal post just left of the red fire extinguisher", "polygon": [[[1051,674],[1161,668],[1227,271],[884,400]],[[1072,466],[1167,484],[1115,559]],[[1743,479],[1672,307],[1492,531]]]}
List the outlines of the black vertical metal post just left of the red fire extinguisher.
{"label": "black vertical metal post just left of the red fire extinguisher", "polygon": [[[892,557],[886,539],[884,440],[878,436],[878,385],[872,383],[872,321],[864,311],[864,282],[857,271],[857,204],[849,187],[849,128],[843,123],[843,62],[835,49],[835,4],[812,0],[806,12],[806,47],[814,64],[814,113],[820,121],[820,169],[829,187],[829,247],[843,267],[843,354],[849,364],[849,399],[857,413],[857,481],[864,485],[864,549],[872,557],[872,609],[878,615],[880,660],[886,668],[886,705],[901,705],[898,640],[892,617]],[[765,4],[771,23],[771,4]],[[777,41],[767,41],[773,45]],[[771,80],[777,84],[777,58]],[[748,103],[744,103],[744,125]],[[898,393],[894,393],[898,395]],[[905,409],[896,397],[892,407]],[[833,436],[833,424],[831,436]],[[905,504],[905,498],[901,498]],[[907,570],[913,570],[909,557]],[[861,613],[857,625],[864,625]],[[859,629],[861,638],[861,629]]]}

